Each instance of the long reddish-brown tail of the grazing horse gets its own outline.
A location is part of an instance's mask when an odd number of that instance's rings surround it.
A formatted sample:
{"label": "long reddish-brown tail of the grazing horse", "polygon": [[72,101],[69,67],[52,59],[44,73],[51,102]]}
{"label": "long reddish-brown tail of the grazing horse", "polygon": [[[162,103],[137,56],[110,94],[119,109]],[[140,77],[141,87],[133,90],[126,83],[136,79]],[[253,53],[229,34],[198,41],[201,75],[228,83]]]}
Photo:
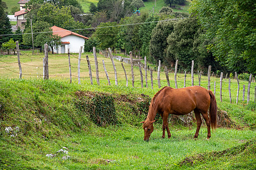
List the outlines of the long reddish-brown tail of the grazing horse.
{"label": "long reddish-brown tail of the grazing horse", "polygon": [[212,129],[217,127],[217,103],[214,94],[209,90],[210,95],[210,125]]}

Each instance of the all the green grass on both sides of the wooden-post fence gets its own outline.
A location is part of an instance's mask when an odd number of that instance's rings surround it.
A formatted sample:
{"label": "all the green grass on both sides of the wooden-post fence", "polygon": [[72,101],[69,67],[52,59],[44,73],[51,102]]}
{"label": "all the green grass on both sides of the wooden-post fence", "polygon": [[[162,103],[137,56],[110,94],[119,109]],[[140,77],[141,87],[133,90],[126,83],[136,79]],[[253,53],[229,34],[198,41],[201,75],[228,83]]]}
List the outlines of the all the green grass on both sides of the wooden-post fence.
{"label": "all the green grass on both sides of the wooden-post fence", "polygon": [[[85,55],[82,54],[82,59]],[[94,63],[92,54],[87,55]],[[22,80],[18,79],[16,56],[0,57],[1,169],[255,169],[256,114],[253,95],[249,104],[242,102],[241,96],[238,104],[234,103],[235,98],[230,104],[226,90],[228,79],[224,79],[222,103],[217,85],[217,106],[228,112],[234,126],[212,131],[212,137],[207,140],[207,128],[203,123],[199,138],[194,140],[195,122],[189,126],[184,126],[182,122],[170,122],[172,136],[162,139],[162,120],[159,120],[154,125],[150,141],[144,142],[144,131],[139,122],[146,115],[138,112],[137,103],[146,101],[141,94],[150,98],[154,96],[159,90],[157,80],[154,79],[153,89],[145,85],[141,88],[139,69],[134,66],[134,74],[137,75],[135,87],[131,86],[130,75],[129,86],[126,87],[121,63],[114,60],[119,73],[118,86],[115,86],[110,59],[97,55],[98,62],[104,59],[106,63],[111,86],[108,86],[102,65],[99,65],[100,86],[96,83],[95,73],[94,84],[90,84],[86,60],[81,61],[82,78],[81,84],[78,84],[78,54],[71,56],[72,83],[69,83],[67,54],[49,54],[49,80],[42,79],[41,53],[32,55],[22,52]],[[126,70],[130,70],[130,65],[124,65]],[[92,70],[95,70],[94,65]],[[171,87],[174,87],[173,73],[169,74]],[[180,71],[178,75],[178,87],[183,87],[183,73]],[[153,77],[157,77],[155,71]],[[164,73],[161,80],[161,86],[166,86]],[[211,77],[211,84],[214,81],[219,84],[218,80],[218,77]],[[194,83],[198,83],[196,78]],[[247,86],[246,81],[241,80],[240,83]],[[189,84],[191,78],[188,76],[187,86]],[[206,75],[202,76],[201,86],[207,87]],[[231,86],[232,94],[236,96],[236,80],[232,79]],[[251,87],[254,92],[255,83],[251,83]],[[118,124],[103,127],[94,124],[88,113],[77,108],[77,92],[114,96]],[[126,98],[120,101],[117,95]],[[5,129],[9,126],[13,129],[19,127],[16,133],[14,130],[14,137],[6,133]],[[57,153],[61,148],[68,154]],[[47,154],[53,157],[47,157]]]}

